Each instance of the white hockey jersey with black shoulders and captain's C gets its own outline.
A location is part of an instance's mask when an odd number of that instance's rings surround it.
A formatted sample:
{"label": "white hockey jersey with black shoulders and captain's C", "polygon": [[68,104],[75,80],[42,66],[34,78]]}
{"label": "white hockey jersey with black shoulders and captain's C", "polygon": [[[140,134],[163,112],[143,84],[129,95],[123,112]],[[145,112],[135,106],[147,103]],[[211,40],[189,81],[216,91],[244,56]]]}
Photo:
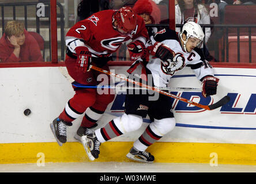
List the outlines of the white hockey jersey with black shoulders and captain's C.
{"label": "white hockey jersey with black shoulders and captain's C", "polygon": [[168,45],[176,55],[178,54],[177,56],[181,56],[177,62],[163,62],[150,55],[146,68],[152,73],[155,86],[166,87],[175,72],[182,70],[185,66],[191,67],[199,80],[206,75],[214,76],[213,68],[208,61],[205,60],[201,49],[195,48],[192,52],[185,52],[179,40],[178,33],[174,30],[160,30],[154,36],[150,37],[150,41],[152,45],[155,44],[156,41]]}

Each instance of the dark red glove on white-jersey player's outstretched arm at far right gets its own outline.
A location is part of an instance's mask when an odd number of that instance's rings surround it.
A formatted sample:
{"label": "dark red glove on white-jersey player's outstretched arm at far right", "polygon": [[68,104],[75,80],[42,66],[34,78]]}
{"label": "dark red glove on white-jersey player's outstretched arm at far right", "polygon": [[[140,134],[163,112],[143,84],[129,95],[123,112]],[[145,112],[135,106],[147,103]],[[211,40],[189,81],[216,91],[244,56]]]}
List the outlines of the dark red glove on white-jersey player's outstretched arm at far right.
{"label": "dark red glove on white-jersey player's outstretched arm at far right", "polygon": [[202,95],[208,97],[209,95],[214,95],[217,92],[217,86],[220,79],[206,75],[202,80]]}

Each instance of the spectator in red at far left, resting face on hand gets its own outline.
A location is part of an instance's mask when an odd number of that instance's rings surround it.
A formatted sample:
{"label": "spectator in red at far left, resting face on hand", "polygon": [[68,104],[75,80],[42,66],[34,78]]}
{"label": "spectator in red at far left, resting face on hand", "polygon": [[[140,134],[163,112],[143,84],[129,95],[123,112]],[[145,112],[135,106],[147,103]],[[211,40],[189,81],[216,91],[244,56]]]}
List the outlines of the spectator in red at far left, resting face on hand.
{"label": "spectator in red at far left, resting face on hand", "polygon": [[0,62],[43,62],[37,41],[24,28],[24,24],[9,21],[0,39]]}

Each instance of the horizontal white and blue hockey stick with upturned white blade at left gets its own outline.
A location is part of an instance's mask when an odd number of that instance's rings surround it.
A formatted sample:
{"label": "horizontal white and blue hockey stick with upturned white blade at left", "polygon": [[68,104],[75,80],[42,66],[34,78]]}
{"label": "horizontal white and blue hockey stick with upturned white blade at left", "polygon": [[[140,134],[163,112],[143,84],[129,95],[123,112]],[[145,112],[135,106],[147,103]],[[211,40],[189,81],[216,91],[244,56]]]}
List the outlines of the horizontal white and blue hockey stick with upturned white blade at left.
{"label": "horizontal white and blue hockey stick with upturned white blade at left", "polygon": [[[66,67],[59,67],[59,71],[61,72],[61,74],[63,76],[65,76],[65,78],[67,79],[67,81],[71,82],[73,86],[75,87],[84,87],[84,88],[108,88],[108,89],[134,89],[134,90],[146,90],[145,87],[131,87],[131,86],[88,86],[88,85],[82,85],[80,83],[77,83],[74,81],[73,78],[71,78],[71,76],[69,75],[69,73],[67,72]],[[201,91],[201,89],[199,88],[195,88],[195,87],[157,87],[157,89],[160,90],[175,90],[175,91]]]}

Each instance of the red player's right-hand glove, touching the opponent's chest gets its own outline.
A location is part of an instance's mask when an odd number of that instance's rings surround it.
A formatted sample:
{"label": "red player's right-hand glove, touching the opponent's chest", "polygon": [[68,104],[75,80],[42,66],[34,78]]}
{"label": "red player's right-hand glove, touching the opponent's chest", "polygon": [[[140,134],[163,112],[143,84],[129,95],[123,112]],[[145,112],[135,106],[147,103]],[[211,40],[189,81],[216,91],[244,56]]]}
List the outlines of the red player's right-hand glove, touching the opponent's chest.
{"label": "red player's right-hand glove, touching the opponent's chest", "polygon": [[132,43],[130,43],[129,45],[127,45],[128,47],[128,51],[130,54],[130,58],[131,61],[135,61],[137,59],[144,58],[145,54],[146,54],[146,47],[144,45],[144,43],[142,43],[141,41],[137,40],[134,41]]}

